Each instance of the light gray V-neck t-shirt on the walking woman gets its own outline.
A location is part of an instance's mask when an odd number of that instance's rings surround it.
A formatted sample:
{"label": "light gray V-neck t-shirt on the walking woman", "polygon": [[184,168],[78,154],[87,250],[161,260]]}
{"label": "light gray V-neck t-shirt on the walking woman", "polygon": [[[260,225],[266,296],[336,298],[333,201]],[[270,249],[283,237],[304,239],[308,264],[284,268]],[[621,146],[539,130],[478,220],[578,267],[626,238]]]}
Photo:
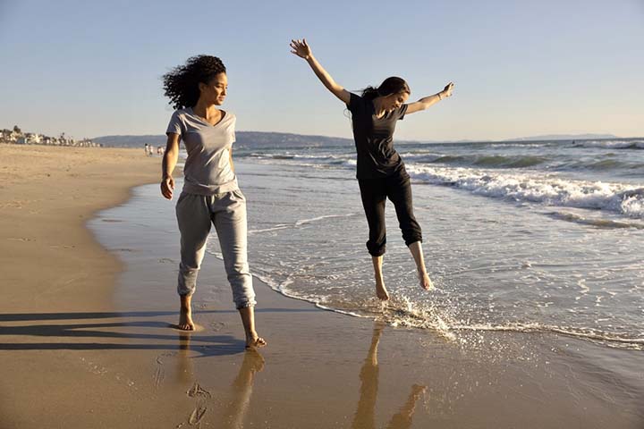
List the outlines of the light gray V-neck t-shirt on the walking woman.
{"label": "light gray V-neck t-shirt on the walking woman", "polygon": [[172,115],[166,134],[179,134],[188,152],[183,166],[183,191],[213,195],[238,189],[229,148],[235,141],[235,115],[224,112],[216,125],[194,114],[191,107]]}

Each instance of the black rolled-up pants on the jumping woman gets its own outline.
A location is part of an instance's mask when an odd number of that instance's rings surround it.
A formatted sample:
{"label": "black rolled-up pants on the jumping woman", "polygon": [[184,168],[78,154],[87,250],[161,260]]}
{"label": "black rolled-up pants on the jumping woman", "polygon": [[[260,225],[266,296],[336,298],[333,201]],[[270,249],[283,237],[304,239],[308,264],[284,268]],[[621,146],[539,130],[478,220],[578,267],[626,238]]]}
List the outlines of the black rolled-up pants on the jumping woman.
{"label": "black rolled-up pants on the jumping woman", "polygon": [[402,239],[409,246],[422,241],[420,225],[416,222],[411,205],[411,184],[407,174],[394,174],[381,179],[359,179],[362,206],[369,223],[367,249],[372,257],[380,257],[386,250],[386,198],[394,203]]}

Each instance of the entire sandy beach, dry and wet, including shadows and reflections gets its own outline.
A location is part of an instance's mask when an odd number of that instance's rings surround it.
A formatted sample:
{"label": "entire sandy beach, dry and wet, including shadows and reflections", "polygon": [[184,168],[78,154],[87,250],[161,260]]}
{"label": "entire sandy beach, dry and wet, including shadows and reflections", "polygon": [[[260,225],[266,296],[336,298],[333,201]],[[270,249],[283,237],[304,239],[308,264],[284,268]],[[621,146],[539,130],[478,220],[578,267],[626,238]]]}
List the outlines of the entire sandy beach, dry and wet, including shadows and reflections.
{"label": "entire sandy beach, dry and wet, including shadows and reflections", "polygon": [[[138,149],[0,155],[3,429],[644,422],[640,351],[531,332],[462,343],[324,311],[257,279],[269,344],[245,352],[212,255],[193,301],[199,330],[177,332],[178,233],[174,202],[157,194],[160,159]],[[131,189],[145,183],[155,184]]]}

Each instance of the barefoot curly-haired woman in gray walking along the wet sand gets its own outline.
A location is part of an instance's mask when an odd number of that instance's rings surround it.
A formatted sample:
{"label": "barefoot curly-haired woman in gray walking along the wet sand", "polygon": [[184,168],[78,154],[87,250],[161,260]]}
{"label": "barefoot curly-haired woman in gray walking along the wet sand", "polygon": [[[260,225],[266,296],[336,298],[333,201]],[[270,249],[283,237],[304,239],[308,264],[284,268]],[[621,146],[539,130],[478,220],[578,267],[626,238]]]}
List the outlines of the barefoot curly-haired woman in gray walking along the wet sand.
{"label": "barefoot curly-haired woman in gray walking along the wet sand", "polygon": [[188,158],[183,189],[176,204],[181,231],[181,264],[177,291],[181,307],[177,327],[195,329],[191,298],[212,225],[224,257],[235,307],[242,315],[246,347],[266,345],[255,331],[256,304],[247,256],[246,199],[237,186],[232,145],[235,116],[220,108],[228,88],[225,65],[216,56],[198,55],[164,75],[165,96],[177,109],[168,124],[161,193],[174,194],[172,172],[183,140]]}

